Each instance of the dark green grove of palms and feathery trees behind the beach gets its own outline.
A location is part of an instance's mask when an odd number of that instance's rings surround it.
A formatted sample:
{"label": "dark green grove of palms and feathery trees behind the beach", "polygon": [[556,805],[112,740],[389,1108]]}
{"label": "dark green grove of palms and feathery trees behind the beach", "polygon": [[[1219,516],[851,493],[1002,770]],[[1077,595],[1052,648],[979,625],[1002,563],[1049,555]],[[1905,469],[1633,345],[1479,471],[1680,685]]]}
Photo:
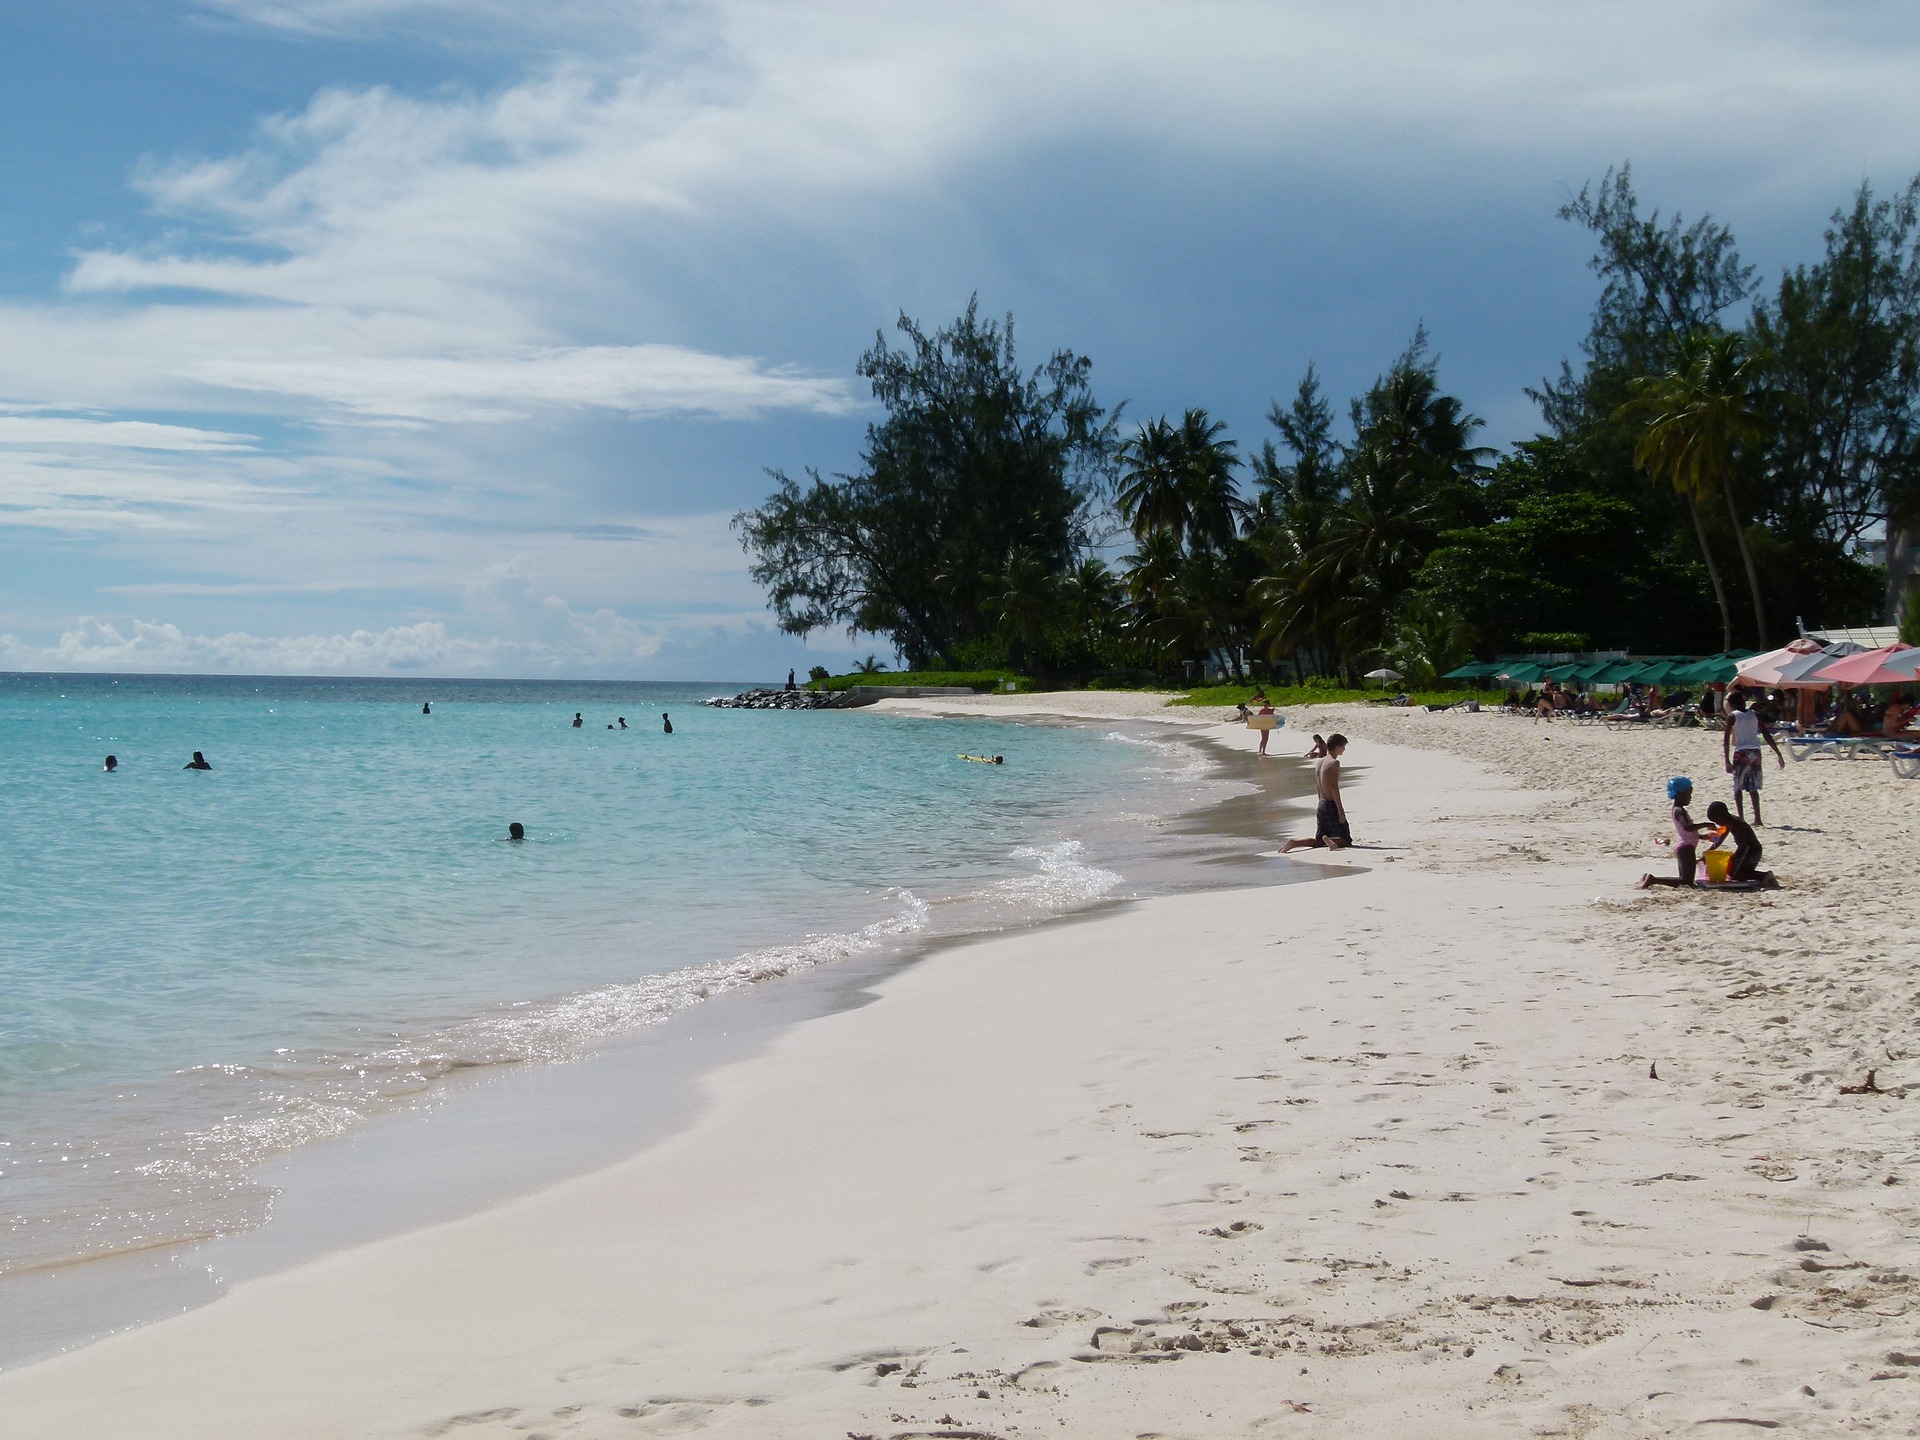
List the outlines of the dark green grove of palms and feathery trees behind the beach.
{"label": "dark green grove of palms and feathery trees behind the beach", "polygon": [[1342,407],[1309,365],[1242,451],[1200,407],[1117,444],[1087,359],[1023,372],[970,303],[860,357],[883,419],[854,474],[772,472],[735,516],[753,574],[783,630],[877,636],[916,676],[1116,687],[1726,649],[1726,576],[1757,643],[1884,612],[1905,549],[1885,572],[1864,543],[1920,534],[1920,180],[1862,184],[1743,328],[1755,271],[1711,215],[1644,209],[1626,167],[1561,215],[1594,242],[1592,324],[1498,461],[1425,330]]}

